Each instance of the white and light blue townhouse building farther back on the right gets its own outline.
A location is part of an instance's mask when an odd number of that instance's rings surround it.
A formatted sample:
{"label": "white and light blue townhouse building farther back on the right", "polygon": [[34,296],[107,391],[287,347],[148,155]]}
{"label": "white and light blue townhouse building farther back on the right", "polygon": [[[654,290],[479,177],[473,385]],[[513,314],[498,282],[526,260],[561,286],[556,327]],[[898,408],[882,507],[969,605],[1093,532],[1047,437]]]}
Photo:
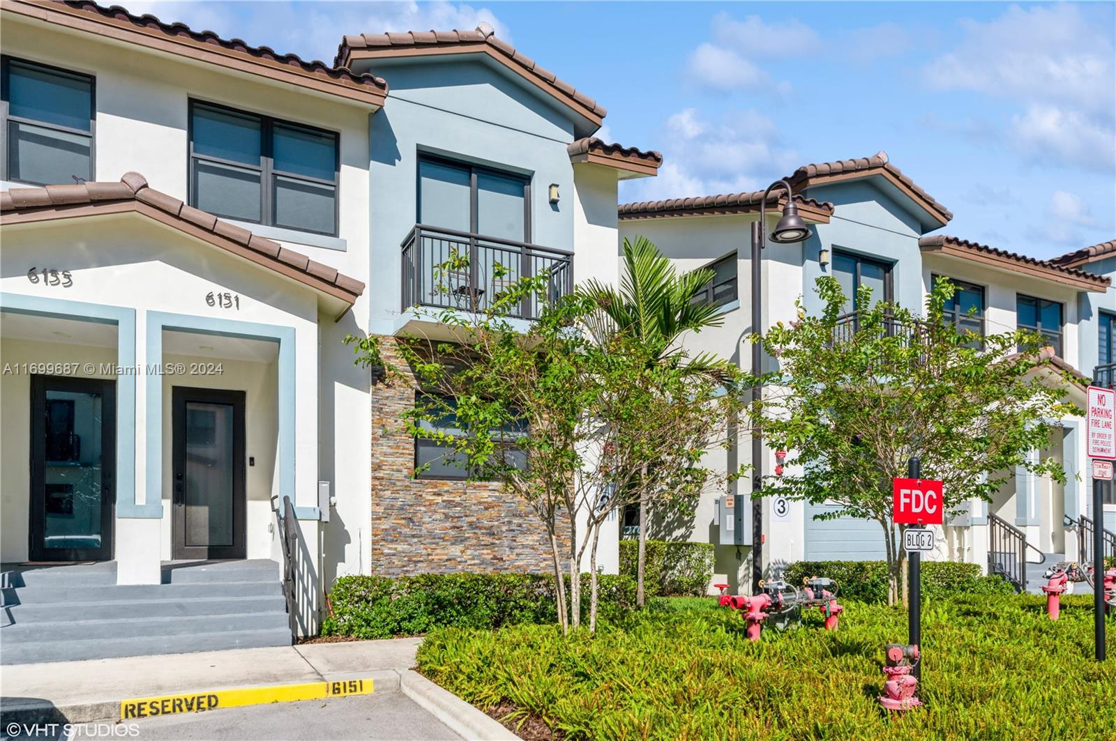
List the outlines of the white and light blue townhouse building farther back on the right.
{"label": "white and light blue townhouse building farther back on the right", "polygon": [[[1079,379],[1069,393],[1084,408],[1088,376],[1095,365],[1112,357],[1108,317],[1116,311],[1116,297],[1112,266],[1106,262],[1112,259],[1110,248],[1098,246],[1056,260],[1038,260],[932,234],[944,228],[953,214],[884,152],[805,165],[786,180],[799,213],[814,233],[805,242],[769,242],[763,250],[761,328],[793,320],[799,297],[807,311],[820,310],[814,292],[820,276],[836,278],[849,297],[867,286],[873,300],[911,308],[924,308],[933,282],[944,277],[959,289],[949,307],[959,324],[981,334],[1023,327],[1046,336],[1050,346],[1046,352]],[[768,203],[769,233],[779,218],[776,206],[787,202],[786,194],[775,193],[778,199],[772,196]],[[762,198],[762,192],[741,193],[627,203],[618,209],[622,238],[648,237],[682,270],[714,270],[709,300],[723,307],[724,323],[691,335],[684,343],[694,350],[731,358],[741,367],[750,367],[747,337],[756,326],[750,316],[750,229],[759,219]],[[1116,259],[1112,262],[1116,264]],[[862,308],[866,307],[849,299],[846,309],[850,321]],[[763,358],[763,371],[776,367],[771,358]],[[1066,485],[1020,470],[991,502],[969,502],[962,516],[939,529],[934,558],[980,564],[1026,587],[1028,581],[1035,586],[1043,564],[1081,556],[1081,518],[1090,527],[1095,517],[1084,420],[1057,422],[1049,445],[1032,455],[1059,460],[1069,478]],[[733,449],[711,452],[710,462],[720,470],[735,470],[741,463],[752,463],[750,450],[747,436],[742,436]],[[761,474],[770,475],[776,463],[773,451],[764,449],[764,455],[758,465]],[[655,535],[715,543],[713,581],[748,589],[751,548],[722,542],[716,502],[721,495],[750,491],[750,479],[728,482],[723,490],[703,495],[692,528]],[[1116,517],[1116,502],[1110,495],[1107,501],[1104,518],[1110,523]],[[879,525],[849,517],[817,519],[835,509],[798,501],[780,506],[777,511],[770,498],[764,498],[760,523],[763,572],[778,574],[785,565],[804,559],[884,558]],[[1009,540],[1027,545],[1013,546],[1008,554],[1003,543]],[[1021,548],[1027,552],[1026,564],[1014,558]]]}

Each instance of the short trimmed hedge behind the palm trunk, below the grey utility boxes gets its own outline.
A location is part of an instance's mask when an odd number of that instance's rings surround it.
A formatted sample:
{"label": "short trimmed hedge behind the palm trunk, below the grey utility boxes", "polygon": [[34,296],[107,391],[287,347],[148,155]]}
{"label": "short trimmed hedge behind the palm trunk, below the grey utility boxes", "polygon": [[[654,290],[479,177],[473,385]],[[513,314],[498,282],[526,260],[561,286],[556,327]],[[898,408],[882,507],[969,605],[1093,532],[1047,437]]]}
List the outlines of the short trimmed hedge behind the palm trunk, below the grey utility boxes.
{"label": "short trimmed hedge behind the palm trunk, below the grey utility boxes", "polygon": [[[708,542],[648,540],[644,554],[648,597],[701,597],[713,578],[713,546]],[[620,574],[636,579],[639,541],[620,541]]]}

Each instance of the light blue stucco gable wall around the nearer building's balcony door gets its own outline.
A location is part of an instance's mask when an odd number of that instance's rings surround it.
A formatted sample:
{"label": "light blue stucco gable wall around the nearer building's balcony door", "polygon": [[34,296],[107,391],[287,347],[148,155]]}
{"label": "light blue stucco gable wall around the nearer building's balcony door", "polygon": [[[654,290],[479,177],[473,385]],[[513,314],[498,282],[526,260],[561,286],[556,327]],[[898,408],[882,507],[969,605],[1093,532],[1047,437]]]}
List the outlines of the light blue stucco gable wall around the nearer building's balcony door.
{"label": "light blue stucco gable wall around the nearer building's balcony door", "polygon": [[[391,334],[401,310],[401,243],[417,219],[420,152],[528,175],[530,241],[573,251],[574,123],[551,103],[480,58],[377,64],[391,95],[369,126],[368,283],[373,334]],[[557,183],[559,202],[547,198]]]}

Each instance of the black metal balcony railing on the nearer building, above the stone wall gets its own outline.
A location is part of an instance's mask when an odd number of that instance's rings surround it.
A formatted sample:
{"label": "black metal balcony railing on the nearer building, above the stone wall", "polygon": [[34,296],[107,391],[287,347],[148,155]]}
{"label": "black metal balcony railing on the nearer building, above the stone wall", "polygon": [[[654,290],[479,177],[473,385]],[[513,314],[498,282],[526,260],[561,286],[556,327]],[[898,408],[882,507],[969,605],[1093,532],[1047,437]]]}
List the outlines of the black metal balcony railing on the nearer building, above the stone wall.
{"label": "black metal balcony railing on the nearer building, above the stone wall", "polygon": [[574,288],[574,256],[562,250],[425,224],[415,224],[402,248],[404,310],[432,306],[484,311],[512,283],[546,276],[545,298],[527,295],[509,312],[516,318],[536,319],[541,300],[554,301]]}

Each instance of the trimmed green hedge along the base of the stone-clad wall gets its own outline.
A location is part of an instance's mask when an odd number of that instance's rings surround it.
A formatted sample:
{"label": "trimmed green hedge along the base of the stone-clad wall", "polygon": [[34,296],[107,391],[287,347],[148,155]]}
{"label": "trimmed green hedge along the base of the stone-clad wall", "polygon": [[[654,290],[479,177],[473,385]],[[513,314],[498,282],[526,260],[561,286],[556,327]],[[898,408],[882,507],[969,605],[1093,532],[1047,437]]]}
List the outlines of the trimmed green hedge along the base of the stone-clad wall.
{"label": "trimmed green hedge along the base of the stone-clad wall", "polygon": [[[620,620],[635,605],[635,583],[600,575],[598,619]],[[569,577],[566,579],[567,590]],[[568,591],[567,591],[568,594]],[[492,629],[558,622],[554,577],[542,574],[343,576],[329,591],[334,614],[321,635],[391,638],[437,627]],[[581,575],[581,616],[589,615],[589,575]]]}

